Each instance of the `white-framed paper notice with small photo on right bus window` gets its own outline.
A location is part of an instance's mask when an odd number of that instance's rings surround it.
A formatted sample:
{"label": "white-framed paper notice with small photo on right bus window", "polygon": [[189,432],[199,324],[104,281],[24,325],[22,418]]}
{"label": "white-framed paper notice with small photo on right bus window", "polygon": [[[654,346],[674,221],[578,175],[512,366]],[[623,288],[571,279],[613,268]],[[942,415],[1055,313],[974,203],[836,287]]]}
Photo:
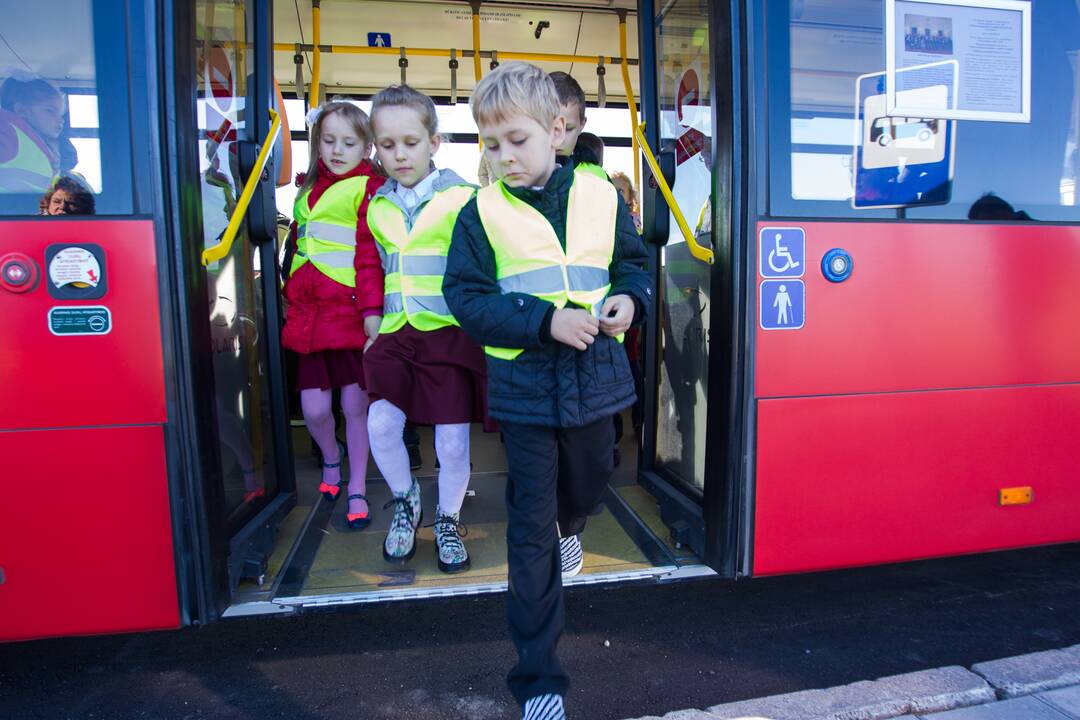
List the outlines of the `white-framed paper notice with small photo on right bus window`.
{"label": "white-framed paper notice with small photo on right bus window", "polygon": [[[933,83],[902,70],[943,60],[958,69],[955,103],[905,95]],[[1031,3],[886,0],[886,106],[895,117],[1030,122]]]}

